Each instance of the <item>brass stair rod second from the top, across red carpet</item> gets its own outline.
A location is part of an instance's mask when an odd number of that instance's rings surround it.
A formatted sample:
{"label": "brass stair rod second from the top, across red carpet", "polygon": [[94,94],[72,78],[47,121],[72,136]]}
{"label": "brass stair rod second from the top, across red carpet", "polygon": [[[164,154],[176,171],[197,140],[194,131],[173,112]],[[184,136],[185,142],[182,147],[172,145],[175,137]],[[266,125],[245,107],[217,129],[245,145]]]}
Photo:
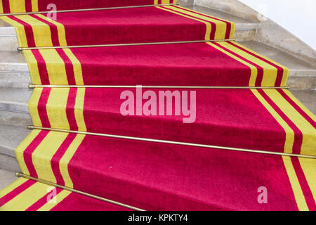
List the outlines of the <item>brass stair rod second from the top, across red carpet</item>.
{"label": "brass stair rod second from the top, across red carpet", "polygon": [[117,46],[143,46],[157,44],[188,44],[204,42],[235,41],[235,39],[218,39],[218,40],[199,40],[199,41],[163,41],[163,42],[145,42],[145,43],[126,43],[126,44],[94,44],[94,45],[73,45],[73,46],[51,46],[51,47],[18,47],[18,51],[34,49],[79,49],[79,48],[100,48],[100,47],[117,47]]}

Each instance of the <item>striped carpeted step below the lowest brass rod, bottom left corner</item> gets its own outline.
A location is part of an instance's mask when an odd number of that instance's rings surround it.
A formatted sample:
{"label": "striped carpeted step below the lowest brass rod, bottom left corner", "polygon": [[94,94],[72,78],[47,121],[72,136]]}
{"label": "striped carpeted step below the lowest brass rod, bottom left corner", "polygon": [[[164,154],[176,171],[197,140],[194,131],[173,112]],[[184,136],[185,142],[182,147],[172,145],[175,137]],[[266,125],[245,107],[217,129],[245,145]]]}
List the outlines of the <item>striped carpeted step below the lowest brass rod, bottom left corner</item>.
{"label": "striped carpeted step below the lowest brass rod, bottom left corner", "polygon": [[[16,179],[12,176],[14,176],[14,174],[4,172],[5,184],[8,184],[10,180],[14,182],[7,186],[5,190],[1,190],[0,194],[4,192],[9,193],[6,196],[10,196],[11,198],[13,196],[14,198],[17,197],[19,198],[19,203],[24,204],[14,205],[8,203],[8,200],[11,200],[10,197],[2,198],[1,200],[4,201],[1,201],[1,203],[3,203],[3,205],[1,205],[1,211],[131,211],[128,207],[121,207],[117,204],[107,203],[104,200],[98,200],[81,193],[79,194],[57,187],[54,190],[56,193],[55,198],[58,199],[58,203],[47,203],[46,194],[50,193],[52,189],[51,185],[43,184],[43,182],[40,181],[25,179],[24,177]],[[17,191],[17,187],[18,189],[22,188],[24,191],[20,193]],[[32,190],[31,194],[29,194],[30,190]]]}

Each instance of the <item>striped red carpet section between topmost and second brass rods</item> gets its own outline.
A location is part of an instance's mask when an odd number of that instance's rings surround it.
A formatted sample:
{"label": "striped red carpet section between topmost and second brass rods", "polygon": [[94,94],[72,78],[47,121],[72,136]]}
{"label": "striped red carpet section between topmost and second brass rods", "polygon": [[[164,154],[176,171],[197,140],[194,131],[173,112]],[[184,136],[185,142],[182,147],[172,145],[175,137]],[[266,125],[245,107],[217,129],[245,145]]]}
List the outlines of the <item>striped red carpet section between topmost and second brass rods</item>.
{"label": "striped red carpet section between topmost and second brass rods", "polygon": [[[58,23],[65,27],[67,44],[119,44],[155,41],[195,41],[206,39],[230,39],[235,25],[225,20],[187,11],[179,6],[124,8],[108,11],[58,13]],[[58,25],[45,20],[43,15],[11,16],[12,20],[25,22],[29,47],[63,46],[58,39]],[[33,21],[37,23],[33,24]],[[205,33],[205,23],[210,22],[211,32]],[[29,25],[32,23],[32,26]],[[36,37],[34,29],[46,25],[50,32]],[[227,27],[227,30],[226,30]],[[42,28],[43,29],[43,28]],[[225,31],[225,32],[223,32]],[[66,44],[66,45],[67,45]]]}

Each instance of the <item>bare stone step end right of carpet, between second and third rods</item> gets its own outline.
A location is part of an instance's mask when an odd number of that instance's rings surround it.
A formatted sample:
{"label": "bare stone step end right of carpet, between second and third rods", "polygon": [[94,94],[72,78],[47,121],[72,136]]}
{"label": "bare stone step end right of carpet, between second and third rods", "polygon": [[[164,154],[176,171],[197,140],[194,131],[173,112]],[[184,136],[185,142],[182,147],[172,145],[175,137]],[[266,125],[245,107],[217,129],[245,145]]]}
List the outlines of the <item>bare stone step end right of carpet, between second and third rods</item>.
{"label": "bare stone step end right of carpet, between second and third rods", "polygon": [[257,41],[239,41],[239,43],[289,68],[288,85],[291,89],[316,89],[316,68],[312,65]]}

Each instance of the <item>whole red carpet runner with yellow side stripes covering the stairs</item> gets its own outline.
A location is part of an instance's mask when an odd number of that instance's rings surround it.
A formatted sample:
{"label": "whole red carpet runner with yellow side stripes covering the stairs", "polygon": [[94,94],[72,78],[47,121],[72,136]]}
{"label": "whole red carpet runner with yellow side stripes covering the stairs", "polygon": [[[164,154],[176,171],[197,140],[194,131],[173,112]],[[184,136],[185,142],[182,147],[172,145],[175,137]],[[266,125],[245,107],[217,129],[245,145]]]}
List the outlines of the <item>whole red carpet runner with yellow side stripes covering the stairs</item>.
{"label": "whole red carpet runner with yellow side stripes covering the stairs", "polygon": [[[0,12],[46,11],[44,0],[14,2],[1,1]],[[174,2],[53,3],[63,10]],[[316,210],[315,115],[284,89],[287,68],[220,41],[232,39],[233,23],[180,6],[0,18],[22,48],[78,46],[23,50],[35,85],[34,129],[15,153],[31,177],[0,192],[0,210],[130,210],[31,178],[141,210]],[[82,47],[95,44],[136,45]]]}

